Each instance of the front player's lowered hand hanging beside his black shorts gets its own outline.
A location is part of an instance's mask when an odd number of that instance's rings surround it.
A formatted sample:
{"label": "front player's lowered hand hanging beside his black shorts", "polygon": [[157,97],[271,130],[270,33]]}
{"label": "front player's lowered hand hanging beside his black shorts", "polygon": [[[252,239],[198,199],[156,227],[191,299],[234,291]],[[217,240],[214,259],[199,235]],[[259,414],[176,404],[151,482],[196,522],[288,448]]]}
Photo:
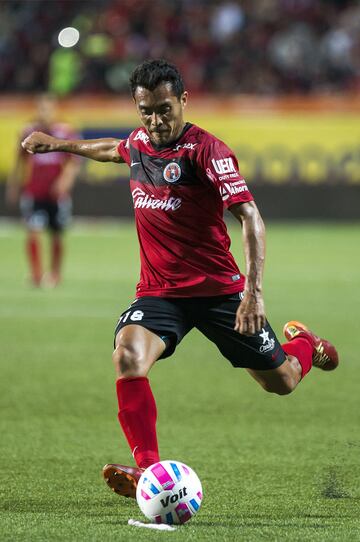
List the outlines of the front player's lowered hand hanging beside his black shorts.
{"label": "front player's lowered hand hanging beside his black shorts", "polygon": [[263,297],[258,292],[244,292],[236,312],[235,331],[242,335],[254,335],[261,331],[266,323],[265,305]]}

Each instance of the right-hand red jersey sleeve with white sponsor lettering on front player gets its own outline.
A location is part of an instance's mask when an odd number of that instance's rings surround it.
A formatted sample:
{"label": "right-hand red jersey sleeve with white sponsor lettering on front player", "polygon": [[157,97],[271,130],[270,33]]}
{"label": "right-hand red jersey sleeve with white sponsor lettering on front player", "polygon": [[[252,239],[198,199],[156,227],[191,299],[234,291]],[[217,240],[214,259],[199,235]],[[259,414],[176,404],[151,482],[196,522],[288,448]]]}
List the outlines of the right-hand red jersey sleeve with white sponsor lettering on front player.
{"label": "right-hand red jersey sleeve with white sponsor lettering on front player", "polygon": [[202,145],[198,167],[202,175],[219,191],[226,209],[235,203],[254,199],[239,171],[235,154],[219,139]]}

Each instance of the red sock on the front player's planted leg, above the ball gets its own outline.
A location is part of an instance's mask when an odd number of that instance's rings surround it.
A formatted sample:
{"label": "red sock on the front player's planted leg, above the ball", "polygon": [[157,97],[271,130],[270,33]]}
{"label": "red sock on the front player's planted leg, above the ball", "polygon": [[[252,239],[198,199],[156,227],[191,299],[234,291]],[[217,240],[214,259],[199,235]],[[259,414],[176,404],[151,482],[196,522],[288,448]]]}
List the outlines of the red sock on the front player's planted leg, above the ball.
{"label": "red sock on the front player's planted leg, above the ball", "polygon": [[119,421],[133,457],[141,468],[160,461],[156,437],[156,404],[146,377],[119,378],[116,382]]}

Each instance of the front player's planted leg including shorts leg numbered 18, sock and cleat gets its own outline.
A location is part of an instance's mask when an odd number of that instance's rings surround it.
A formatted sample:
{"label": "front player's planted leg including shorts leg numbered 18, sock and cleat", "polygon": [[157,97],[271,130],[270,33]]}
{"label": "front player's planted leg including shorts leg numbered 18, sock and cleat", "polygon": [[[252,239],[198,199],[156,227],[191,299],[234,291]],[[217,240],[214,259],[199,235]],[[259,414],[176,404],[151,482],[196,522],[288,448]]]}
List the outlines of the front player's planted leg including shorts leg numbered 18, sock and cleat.
{"label": "front player's planted leg including shorts leg numbered 18, sock and cleat", "polygon": [[156,297],[137,299],[119,319],[113,353],[118,418],[137,463],[137,468],[105,465],[105,481],[119,495],[135,497],[143,469],[160,460],[156,404],[147,375],[157,359],[172,354],[190,328],[176,302]]}

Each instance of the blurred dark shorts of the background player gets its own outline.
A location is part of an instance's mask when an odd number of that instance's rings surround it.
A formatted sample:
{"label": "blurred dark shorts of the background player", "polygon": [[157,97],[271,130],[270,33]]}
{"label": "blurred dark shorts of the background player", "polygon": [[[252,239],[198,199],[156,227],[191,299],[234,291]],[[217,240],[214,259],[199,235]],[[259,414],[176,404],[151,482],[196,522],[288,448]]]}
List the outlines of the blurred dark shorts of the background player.
{"label": "blurred dark shorts of the background player", "polygon": [[61,232],[70,221],[71,199],[67,197],[57,202],[38,200],[23,195],[20,200],[20,210],[30,229]]}

